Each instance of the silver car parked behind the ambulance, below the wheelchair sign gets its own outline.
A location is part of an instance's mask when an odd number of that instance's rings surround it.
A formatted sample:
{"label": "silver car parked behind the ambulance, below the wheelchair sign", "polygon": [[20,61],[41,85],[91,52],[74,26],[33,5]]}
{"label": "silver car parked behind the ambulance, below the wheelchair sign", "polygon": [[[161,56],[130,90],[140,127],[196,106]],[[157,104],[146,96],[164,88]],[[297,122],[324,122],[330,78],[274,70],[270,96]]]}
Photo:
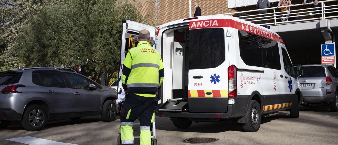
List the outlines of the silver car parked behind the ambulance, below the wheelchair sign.
{"label": "silver car parked behind the ambulance, below the wheelchair sign", "polygon": [[338,111],[338,70],[332,65],[303,65],[299,77],[304,104],[322,103]]}

